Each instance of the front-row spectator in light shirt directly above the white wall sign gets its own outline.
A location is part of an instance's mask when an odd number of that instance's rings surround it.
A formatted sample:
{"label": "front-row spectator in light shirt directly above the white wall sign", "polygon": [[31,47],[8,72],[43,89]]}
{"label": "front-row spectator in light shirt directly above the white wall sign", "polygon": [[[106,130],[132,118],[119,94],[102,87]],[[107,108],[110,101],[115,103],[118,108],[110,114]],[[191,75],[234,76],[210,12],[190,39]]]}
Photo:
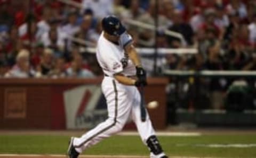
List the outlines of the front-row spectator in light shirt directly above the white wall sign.
{"label": "front-row spectator in light shirt directly above the white wall sign", "polygon": [[67,69],[67,73],[70,77],[94,77],[94,74],[91,71],[89,71],[89,69],[83,68],[83,58],[79,54],[74,56],[70,67]]}

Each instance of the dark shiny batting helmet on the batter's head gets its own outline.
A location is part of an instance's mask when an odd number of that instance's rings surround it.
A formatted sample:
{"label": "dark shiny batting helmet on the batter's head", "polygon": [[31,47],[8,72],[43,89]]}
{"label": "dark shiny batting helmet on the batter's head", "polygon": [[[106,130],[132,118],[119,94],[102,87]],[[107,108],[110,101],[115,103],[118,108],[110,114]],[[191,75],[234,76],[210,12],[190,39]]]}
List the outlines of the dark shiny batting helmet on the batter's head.
{"label": "dark shiny batting helmet on the batter's head", "polygon": [[114,15],[109,15],[102,19],[102,29],[113,36],[120,36],[125,32],[121,21]]}

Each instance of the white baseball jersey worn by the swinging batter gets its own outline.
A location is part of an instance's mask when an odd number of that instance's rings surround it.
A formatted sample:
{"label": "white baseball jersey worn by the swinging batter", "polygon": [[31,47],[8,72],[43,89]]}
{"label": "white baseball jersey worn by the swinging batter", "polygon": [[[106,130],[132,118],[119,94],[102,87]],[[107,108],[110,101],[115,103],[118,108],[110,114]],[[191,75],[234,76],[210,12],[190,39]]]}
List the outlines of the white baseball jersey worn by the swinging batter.
{"label": "white baseball jersey worn by the swinging batter", "polygon": [[113,76],[117,73],[122,73],[125,76],[135,75],[135,66],[124,51],[124,47],[131,44],[132,41],[132,37],[127,32],[120,36],[118,43],[110,42],[101,33],[96,56],[106,75]]}

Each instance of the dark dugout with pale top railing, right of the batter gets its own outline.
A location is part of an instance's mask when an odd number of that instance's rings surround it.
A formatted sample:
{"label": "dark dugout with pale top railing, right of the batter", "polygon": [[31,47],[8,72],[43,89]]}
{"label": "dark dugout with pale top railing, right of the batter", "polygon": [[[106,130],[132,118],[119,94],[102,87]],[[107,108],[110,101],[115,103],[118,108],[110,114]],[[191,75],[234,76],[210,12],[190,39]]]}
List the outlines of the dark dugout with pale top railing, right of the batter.
{"label": "dark dugout with pale top railing, right of the batter", "polygon": [[[189,122],[198,126],[256,125],[256,71],[165,69],[163,74],[169,78],[169,86],[166,87],[169,123]],[[226,80],[226,85],[213,89],[211,82],[219,80]],[[182,91],[184,89],[187,91]],[[214,96],[217,90],[221,94],[219,98]],[[222,105],[214,107],[211,97],[215,97],[215,101]]]}

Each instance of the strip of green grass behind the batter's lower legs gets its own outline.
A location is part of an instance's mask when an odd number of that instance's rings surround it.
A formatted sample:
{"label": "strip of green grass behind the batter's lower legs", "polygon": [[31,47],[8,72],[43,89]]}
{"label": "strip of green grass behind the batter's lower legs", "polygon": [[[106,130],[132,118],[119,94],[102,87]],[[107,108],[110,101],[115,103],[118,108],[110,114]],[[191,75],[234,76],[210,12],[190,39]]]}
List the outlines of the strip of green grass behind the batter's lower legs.
{"label": "strip of green grass behind the batter's lower legs", "polygon": [[[210,148],[196,144],[256,144],[255,135],[159,136],[173,156],[256,157],[256,147]],[[0,135],[1,154],[65,154],[69,136]],[[92,155],[148,155],[139,136],[113,136],[89,148]]]}

